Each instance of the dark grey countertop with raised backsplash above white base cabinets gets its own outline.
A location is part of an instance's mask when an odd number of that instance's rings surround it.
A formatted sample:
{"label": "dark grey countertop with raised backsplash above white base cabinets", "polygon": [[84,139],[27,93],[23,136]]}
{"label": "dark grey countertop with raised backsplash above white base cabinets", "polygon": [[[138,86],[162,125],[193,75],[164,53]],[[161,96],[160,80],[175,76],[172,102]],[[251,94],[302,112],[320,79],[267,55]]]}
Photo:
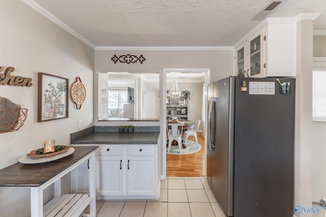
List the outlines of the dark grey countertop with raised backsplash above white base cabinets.
{"label": "dark grey countertop with raised backsplash above white base cabinets", "polygon": [[134,133],[118,133],[118,127],[91,127],[70,135],[70,144],[156,144],[159,127],[134,127]]}

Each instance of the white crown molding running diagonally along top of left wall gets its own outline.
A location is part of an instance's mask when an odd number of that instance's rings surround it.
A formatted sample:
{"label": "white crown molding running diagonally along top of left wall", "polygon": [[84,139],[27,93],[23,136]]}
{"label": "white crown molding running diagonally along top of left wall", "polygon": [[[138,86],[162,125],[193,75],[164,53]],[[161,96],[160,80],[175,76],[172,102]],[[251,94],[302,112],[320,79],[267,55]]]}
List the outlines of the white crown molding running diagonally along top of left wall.
{"label": "white crown molding running diagonally along top of left wall", "polygon": [[26,5],[30,6],[31,8],[33,8],[34,10],[36,10],[37,12],[39,12],[40,14],[42,14],[43,16],[45,16],[46,18],[48,18],[49,20],[51,20],[52,22],[59,25],[61,28],[66,30],[68,33],[70,33],[71,35],[73,35],[74,37],[79,39],[80,41],[84,42],[91,48],[95,49],[95,45],[92,42],[90,42],[85,37],[83,37],[82,35],[77,33],[74,29],[72,29],[70,26],[68,26],[66,23],[64,23],[62,20],[60,20],[58,17],[51,14],[49,11],[47,11],[45,8],[43,8],[42,6],[40,6],[33,0],[21,0],[21,1],[23,3],[25,3]]}

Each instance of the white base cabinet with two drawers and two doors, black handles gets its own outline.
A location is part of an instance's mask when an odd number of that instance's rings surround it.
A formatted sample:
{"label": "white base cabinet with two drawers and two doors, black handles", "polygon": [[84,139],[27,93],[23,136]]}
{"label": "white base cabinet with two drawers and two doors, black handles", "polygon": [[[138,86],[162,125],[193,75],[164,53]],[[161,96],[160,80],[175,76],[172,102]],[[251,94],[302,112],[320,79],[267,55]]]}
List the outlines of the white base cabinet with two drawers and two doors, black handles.
{"label": "white base cabinet with two drawers and two doors, black handles", "polygon": [[157,199],[157,145],[99,145],[97,199]]}

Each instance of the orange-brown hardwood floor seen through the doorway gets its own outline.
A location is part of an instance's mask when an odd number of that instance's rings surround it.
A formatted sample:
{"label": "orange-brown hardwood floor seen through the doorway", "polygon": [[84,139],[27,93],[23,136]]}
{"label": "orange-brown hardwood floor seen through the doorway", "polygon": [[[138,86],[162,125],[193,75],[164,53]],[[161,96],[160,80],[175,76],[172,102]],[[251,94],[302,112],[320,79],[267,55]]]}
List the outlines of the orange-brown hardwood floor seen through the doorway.
{"label": "orange-brown hardwood floor seen through the doorway", "polygon": [[[182,135],[183,138],[183,135]],[[205,176],[205,138],[197,133],[200,151],[192,154],[167,154],[168,177],[204,177]],[[194,137],[188,137],[194,141]]]}

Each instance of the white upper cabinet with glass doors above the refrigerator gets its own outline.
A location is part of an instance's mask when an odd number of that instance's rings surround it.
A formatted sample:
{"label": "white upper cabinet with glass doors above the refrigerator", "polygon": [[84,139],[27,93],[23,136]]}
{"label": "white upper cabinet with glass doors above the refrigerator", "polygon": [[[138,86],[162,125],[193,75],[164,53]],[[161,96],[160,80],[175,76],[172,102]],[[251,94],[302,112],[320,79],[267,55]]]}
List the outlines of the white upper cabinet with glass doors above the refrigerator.
{"label": "white upper cabinet with glass doors above the refrigerator", "polygon": [[295,25],[267,24],[235,49],[235,75],[295,76]]}

